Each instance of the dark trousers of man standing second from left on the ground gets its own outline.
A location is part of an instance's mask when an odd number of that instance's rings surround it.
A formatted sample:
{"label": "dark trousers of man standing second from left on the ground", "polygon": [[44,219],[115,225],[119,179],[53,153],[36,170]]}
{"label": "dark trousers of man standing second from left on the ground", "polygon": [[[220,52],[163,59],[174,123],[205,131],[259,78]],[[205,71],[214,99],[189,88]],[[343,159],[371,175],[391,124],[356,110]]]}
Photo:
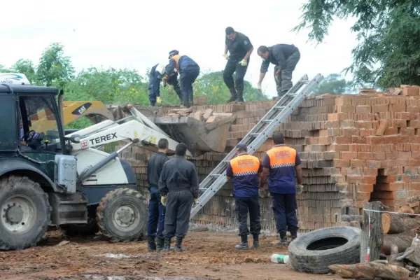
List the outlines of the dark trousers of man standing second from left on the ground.
{"label": "dark trousers of man standing second from left on the ground", "polygon": [[165,238],[185,237],[190,226],[193,193],[188,190],[169,192],[165,213]]}

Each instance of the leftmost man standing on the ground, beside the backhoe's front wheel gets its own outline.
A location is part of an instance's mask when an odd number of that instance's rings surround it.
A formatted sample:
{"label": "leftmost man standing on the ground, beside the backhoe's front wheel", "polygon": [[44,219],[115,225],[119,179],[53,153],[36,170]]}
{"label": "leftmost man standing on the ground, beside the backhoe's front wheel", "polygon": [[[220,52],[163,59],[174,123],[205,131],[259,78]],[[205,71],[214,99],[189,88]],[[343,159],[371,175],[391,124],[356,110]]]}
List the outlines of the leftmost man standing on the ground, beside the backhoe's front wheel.
{"label": "leftmost man standing on the ground, beside the backhoe's front wheel", "polygon": [[[152,155],[147,164],[147,181],[151,198],[149,200],[149,216],[147,222],[147,246],[149,251],[162,251],[163,229],[165,226],[165,206],[162,204],[159,193],[159,178],[163,165],[169,160],[167,156],[168,140],[162,138],[158,141],[158,153]],[[158,243],[156,246],[155,243]]]}

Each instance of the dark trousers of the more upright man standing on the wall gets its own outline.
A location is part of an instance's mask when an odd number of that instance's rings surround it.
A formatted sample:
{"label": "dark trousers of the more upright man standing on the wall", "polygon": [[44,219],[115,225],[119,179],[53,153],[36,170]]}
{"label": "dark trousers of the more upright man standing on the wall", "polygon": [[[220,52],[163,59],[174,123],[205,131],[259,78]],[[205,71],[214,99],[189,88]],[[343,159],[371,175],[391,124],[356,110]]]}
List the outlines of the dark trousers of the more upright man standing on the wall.
{"label": "dark trousers of the more upright man standing on the wall", "polygon": [[[246,64],[246,66],[241,66],[241,64],[239,64],[241,60],[242,59],[228,60],[225,70],[223,71],[223,80],[230,92],[236,90],[239,94],[244,92],[244,76],[248,69],[250,59],[248,59],[248,64]],[[233,81],[233,73],[235,73],[235,82]]]}

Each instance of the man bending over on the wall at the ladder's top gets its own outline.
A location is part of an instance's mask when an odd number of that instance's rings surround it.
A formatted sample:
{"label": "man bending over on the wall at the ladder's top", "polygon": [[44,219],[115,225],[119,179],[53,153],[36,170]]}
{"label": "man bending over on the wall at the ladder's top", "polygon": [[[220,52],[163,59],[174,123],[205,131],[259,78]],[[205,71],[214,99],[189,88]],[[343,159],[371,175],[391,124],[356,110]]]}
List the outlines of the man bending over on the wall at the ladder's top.
{"label": "man bending over on the wall at the ladder's top", "polygon": [[276,80],[277,98],[279,99],[293,86],[292,73],[300,59],[299,49],[295,45],[277,44],[269,48],[261,45],[257,52],[264,59],[261,64],[258,90],[261,91],[262,80],[264,80],[271,62],[276,65],[274,67],[274,80]]}

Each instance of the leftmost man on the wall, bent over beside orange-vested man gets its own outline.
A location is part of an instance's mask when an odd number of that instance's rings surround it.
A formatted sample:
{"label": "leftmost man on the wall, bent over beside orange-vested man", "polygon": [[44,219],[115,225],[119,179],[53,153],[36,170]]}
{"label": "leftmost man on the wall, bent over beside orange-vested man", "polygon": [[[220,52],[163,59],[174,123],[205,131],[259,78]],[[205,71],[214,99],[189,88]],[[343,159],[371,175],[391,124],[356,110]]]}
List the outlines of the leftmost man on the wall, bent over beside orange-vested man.
{"label": "leftmost man on the wall, bent over beside orange-vested man", "polygon": [[162,99],[160,98],[160,82],[163,80],[163,86],[166,87],[167,84],[173,85],[176,94],[178,94],[179,99],[181,99],[181,90],[178,86],[178,80],[176,80],[176,70],[172,72],[171,75],[167,76],[166,66],[168,62],[158,63],[152,67],[151,73],[149,74],[149,101],[151,106],[156,104],[162,104]]}

